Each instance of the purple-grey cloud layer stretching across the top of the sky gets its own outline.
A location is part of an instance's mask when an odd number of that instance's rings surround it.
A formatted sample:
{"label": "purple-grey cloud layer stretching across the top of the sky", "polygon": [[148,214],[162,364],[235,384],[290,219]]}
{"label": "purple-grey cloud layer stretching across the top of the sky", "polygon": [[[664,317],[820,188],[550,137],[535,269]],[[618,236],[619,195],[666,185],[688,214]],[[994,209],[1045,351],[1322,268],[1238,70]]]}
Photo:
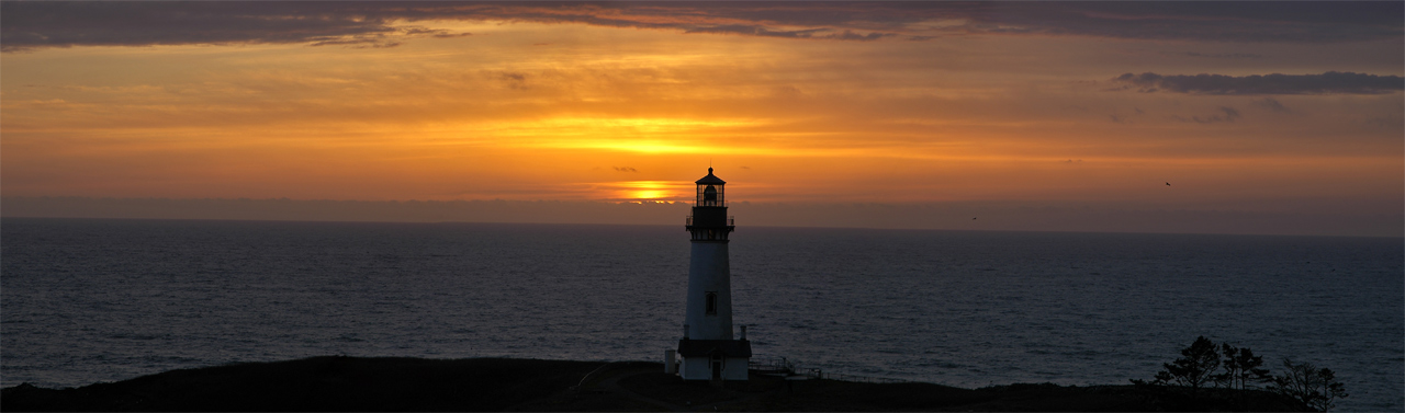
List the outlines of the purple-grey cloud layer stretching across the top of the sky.
{"label": "purple-grey cloud layer stretching across the top of the sky", "polygon": [[[1402,11],[1401,1],[3,1],[0,45],[7,52],[208,43],[395,46],[393,39],[406,36],[464,35],[413,27],[431,20],[575,22],[833,41],[984,34],[1345,42],[1399,38]],[[937,21],[943,24],[930,25]]]}

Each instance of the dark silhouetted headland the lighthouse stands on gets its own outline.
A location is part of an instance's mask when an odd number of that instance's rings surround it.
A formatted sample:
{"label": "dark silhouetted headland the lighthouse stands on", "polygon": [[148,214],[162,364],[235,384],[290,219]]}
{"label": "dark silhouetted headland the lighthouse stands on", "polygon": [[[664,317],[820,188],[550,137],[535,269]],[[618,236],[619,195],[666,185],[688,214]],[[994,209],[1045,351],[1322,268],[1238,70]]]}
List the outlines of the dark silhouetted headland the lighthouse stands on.
{"label": "dark silhouetted headland the lighthouse stands on", "polygon": [[646,361],[311,357],[174,370],[118,382],[0,391],[4,412],[1189,412],[1305,410],[1259,391],[784,379],[684,382]]}

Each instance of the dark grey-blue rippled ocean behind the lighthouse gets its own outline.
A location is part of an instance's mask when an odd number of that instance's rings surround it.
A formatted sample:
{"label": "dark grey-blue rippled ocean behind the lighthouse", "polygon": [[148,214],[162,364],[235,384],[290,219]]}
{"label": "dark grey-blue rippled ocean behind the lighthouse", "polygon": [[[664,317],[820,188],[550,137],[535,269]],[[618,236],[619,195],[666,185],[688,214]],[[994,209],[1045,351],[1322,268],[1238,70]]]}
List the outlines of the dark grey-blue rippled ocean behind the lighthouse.
{"label": "dark grey-blue rippled ocean behind the lighthouse", "polygon": [[[745,217],[743,217],[745,218]],[[1402,238],[747,227],[759,357],[967,388],[1151,379],[1197,336],[1405,409]],[[679,225],[0,220],[0,385],[311,356],[662,360]]]}

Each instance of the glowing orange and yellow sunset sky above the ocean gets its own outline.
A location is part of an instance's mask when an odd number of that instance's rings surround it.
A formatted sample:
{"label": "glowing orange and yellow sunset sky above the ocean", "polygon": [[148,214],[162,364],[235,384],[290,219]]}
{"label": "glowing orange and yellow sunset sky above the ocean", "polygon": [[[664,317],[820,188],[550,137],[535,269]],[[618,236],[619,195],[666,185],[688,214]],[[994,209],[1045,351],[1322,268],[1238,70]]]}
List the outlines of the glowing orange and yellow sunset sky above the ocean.
{"label": "glowing orange and yellow sunset sky above the ocean", "polygon": [[[1401,237],[1402,21],[1399,1],[4,1],[0,213],[667,204],[712,167],[760,224]],[[1007,220],[967,223],[984,211]],[[1159,224],[1094,224],[1118,214]],[[1269,218],[1225,227],[1245,217]]]}

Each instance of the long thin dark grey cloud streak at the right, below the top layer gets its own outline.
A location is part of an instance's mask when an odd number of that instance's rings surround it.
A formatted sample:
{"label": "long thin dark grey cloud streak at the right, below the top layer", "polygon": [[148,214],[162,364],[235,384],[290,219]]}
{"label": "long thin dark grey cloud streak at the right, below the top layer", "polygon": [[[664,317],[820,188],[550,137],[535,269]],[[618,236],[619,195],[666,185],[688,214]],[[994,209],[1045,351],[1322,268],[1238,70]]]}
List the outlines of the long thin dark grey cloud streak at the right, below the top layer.
{"label": "long thin dark grey cloud streak at the right, below the top layer", "polygon": [[1304,94],[1388,94],[1405,90],[1399,76],[1375,76],[1350,71],[1322,74],[1172,74],[1125,73],[1113,81],[1124,83],[1121,90],[1139,87],[1142,92],[1179,92],[1207,95],[1304,95]]}

